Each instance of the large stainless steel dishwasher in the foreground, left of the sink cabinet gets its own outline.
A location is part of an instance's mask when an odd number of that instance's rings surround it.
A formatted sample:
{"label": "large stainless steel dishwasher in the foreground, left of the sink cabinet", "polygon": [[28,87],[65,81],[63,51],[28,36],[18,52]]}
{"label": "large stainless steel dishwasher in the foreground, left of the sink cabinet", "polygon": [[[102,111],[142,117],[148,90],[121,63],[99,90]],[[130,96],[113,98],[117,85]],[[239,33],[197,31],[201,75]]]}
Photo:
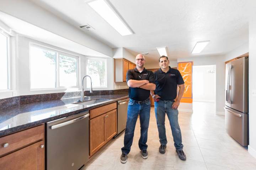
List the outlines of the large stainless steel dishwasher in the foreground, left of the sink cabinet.
{"label": "large stainless steel dishwasher in the foreground, left of the sink cabinet", "polygon": [[53,120],[46,126],[47,170],[78,170],[89,158],[89,112]]}

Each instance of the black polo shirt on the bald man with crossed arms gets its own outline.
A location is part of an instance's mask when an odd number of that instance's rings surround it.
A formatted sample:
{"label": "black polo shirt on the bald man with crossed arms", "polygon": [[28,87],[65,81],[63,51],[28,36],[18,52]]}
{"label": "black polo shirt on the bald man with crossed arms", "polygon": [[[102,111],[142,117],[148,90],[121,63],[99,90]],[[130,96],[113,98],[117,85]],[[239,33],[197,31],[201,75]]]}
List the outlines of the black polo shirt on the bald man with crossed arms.
{"label": "black polo shirt on the bald man with crossed arms", "polygon": [[[155,75],[152,71],[146,70],[145,68],[140,73],[135,67],[130,69],[126,74],[126,82],[128,80],[148,80],[149,83],[155,84]],[[149,98],[150,90],[145,90],[139,87],[129,87],[129,98],[136,101],[144,101]]]}

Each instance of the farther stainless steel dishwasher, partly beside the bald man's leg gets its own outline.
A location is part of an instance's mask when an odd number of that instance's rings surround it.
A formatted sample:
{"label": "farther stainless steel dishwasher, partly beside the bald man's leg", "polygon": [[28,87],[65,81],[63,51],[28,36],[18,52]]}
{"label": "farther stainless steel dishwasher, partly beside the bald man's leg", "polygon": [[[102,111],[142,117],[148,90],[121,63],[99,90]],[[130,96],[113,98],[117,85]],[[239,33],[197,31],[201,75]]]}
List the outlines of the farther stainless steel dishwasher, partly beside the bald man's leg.
{"label": "farther stainless steel dishwasher, partly beside the bald man's leg", "polygon": [[117,102],[117,137],[125,128],[129,98]]}

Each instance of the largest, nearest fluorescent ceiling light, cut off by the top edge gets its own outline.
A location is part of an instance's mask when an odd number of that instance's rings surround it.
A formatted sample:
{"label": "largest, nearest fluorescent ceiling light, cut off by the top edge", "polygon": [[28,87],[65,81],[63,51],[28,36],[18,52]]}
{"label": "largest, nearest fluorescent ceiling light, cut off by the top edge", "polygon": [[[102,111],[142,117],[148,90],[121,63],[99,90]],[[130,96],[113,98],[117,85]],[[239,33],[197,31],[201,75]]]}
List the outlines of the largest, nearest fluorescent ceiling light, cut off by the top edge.
{"label": "largest, nearest fluorescent ceiling light, cut off by the top edge", "polygon": [[88,4],[114,29],[116,29],[119,34],[122,36],[133,34],[105,0],[95,0]]}

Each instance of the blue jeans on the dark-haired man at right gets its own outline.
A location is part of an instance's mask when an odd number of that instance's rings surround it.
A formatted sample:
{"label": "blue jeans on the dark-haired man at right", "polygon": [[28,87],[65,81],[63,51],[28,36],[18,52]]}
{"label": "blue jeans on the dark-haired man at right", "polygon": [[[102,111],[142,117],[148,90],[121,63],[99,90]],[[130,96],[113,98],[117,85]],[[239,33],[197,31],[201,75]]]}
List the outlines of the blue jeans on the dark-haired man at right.
{"label": "blue jeans on the dark-haired man at right", "polygon": [[163,101],[155,102],[155,117],[156,123],[158,126],[159,141],[161,145],[167,144],[167,138],[165,133],[165,113],[169,119],[172,137],[174,138],[174,146],[177,150],[182,150],[182,139],[181,139],[181,130],[178,124],[178,110],[172,109],[172,101]]}

